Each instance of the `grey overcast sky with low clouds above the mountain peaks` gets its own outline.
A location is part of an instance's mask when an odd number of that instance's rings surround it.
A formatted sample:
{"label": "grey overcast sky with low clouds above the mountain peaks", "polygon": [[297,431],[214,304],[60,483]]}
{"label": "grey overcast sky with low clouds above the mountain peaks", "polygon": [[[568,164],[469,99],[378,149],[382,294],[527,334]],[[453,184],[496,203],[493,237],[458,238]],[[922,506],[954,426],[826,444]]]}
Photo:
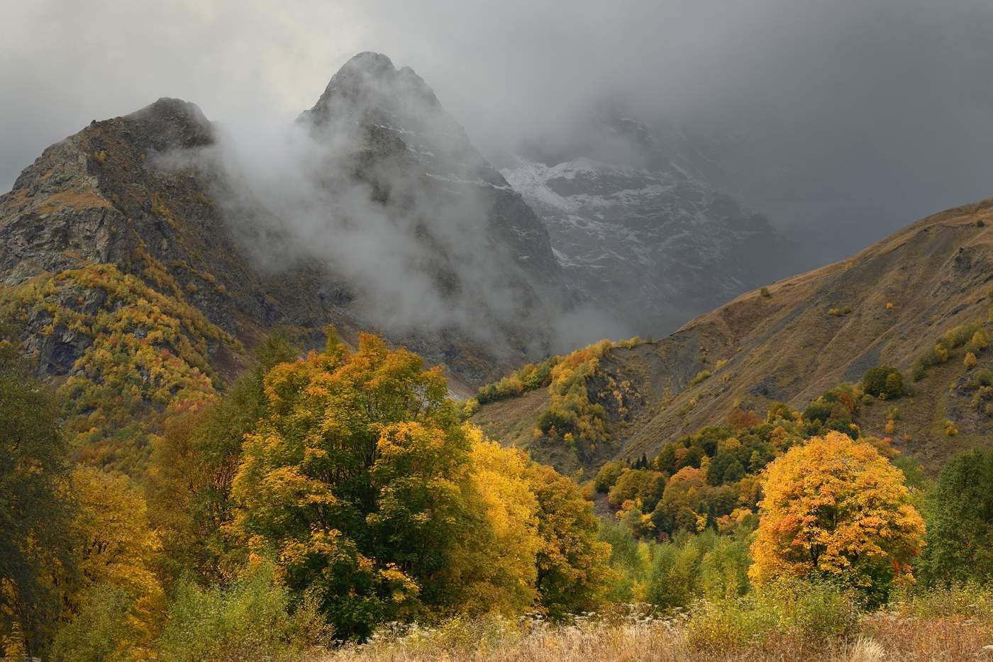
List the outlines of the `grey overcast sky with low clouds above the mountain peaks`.
{"label": "grey overcast sky with low clouds above the mountain peaks", "polygon": [[993,196],[989,0],[0,7],[4,191],[91,119],[178,96],[232,125],[287,121],[351,56],[377,51],[420,73],[485,153],[605,97],[648,121],[732,136],[754,161],[742,197],[782,224],[843,222],[859,208],[881,233]]}

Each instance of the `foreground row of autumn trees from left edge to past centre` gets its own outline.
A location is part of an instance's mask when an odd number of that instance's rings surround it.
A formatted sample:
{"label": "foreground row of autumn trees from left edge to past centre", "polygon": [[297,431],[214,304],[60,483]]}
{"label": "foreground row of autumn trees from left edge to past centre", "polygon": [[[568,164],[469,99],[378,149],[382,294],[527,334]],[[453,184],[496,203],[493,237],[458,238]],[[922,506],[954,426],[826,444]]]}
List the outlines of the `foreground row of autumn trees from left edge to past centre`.
{"label": "foreground row of autumn trees from left edge to past centre", "polygon": [[388,620],[594,609],[614,573],[579,487],[460,421],[440,369],[332,331],[273,337],[174,405],[147,474],[69,462],[10,342],[0,634],[54,660],[268,659]]}

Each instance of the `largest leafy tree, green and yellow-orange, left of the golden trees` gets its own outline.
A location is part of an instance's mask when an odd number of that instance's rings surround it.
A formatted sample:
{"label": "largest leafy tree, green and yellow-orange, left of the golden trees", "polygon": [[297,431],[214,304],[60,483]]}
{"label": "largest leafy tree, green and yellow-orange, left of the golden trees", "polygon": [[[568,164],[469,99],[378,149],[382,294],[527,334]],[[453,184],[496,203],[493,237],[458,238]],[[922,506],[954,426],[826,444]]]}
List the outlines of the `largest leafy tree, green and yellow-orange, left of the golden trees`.
{"label": "largest leafy tree, green and yellow-orange, left of the golden trees", "polygon": [[[443,480],[469,442],[444,377],[373,335],[353,353],[331,334],[326,351],[276,365],[264,384],[266,415],[232,482],[232,530],[275,554],[291,589],[316,592],[342,635],[364,635],[431,595],[451,548],[458,506]],[[401,541],[393,526],[419,533]]]}

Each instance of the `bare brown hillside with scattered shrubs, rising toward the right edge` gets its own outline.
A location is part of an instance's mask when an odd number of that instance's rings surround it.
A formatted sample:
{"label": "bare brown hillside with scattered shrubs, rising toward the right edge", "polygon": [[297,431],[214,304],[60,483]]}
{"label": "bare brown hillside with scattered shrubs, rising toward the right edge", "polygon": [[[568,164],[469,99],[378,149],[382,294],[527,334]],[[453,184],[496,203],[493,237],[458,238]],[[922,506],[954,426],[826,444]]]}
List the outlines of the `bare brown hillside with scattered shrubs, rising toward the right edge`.
{"label": "bare brown hillside with scattered shrubs, rising toward the right edge", "polygon": [[544,388],[485,404],[473,420],[574,470],[653,457],[742,412],[764,417],[774,402],[803,410],[889,365],[903,373],[907,393],[849,403],[852,423],[936,468],[993,435],[993,352],[984,341],[993,333],[991,222],[993,199],[949,209],[848,260],[746,293],[660,340],[607,348],[577,373],[583,397],[602,408],[608,438],[585,454],[532,434],[549,411]]}

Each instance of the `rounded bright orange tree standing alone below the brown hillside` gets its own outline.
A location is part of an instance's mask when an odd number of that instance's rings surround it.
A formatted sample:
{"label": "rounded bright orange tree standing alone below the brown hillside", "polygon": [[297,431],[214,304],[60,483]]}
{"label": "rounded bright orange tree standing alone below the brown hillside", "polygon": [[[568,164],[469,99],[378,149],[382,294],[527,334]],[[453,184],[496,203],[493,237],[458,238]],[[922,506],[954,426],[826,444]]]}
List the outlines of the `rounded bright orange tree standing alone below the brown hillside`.
{"label": "rounded bright orange tree standing alone below the brown hillside", "polygon": [[833,576],[877,599],[911,576],[923,532],[900,469],[873,446],[830,432],[769,465],[749,576],[760,585]]}

